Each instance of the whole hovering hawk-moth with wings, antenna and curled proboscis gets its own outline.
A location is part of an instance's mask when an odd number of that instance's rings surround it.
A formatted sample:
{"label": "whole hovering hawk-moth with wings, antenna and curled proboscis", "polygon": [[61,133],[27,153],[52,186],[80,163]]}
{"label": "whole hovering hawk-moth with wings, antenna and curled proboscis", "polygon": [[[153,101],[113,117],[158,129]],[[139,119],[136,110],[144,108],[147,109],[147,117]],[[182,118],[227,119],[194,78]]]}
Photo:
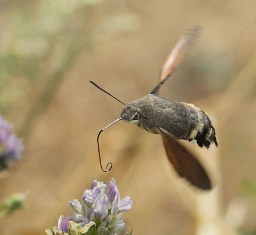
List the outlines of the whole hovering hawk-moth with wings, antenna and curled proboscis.
{"label": "whole hovering hawk-moth with wings, antenna and curled proboscis", "polygon": [[215,137],[215,129],[212,126],[209,116],[193,104],[185,102],[170,101],[158,95],[159,88],[170,77],[175,68],[186,56],[191,44],[198,35],[198,27],[194,27],[175,45],[170,55],[163,64],[159,83],[145,97],[137,101],[125,104],[109,92],[105,91],[93,81],[94,86],[104,91],[106,94],[115,98],[125,105],[122,109],[120,118],[104,127],[98,133],[98,153],[101,169],[108,172],[112,168],[112,163],[106,165],[106,170],[102,168],[101,155],[99,151],[99,135],[103,130],[112,124],[123,120],[131,122],[138,127],[153,133],[160,134],[163,138],[166,154],[179,176],[185,177],[193,186],[202,190],[211,189],[211,181],[201,163],[176,140],[188,140],[197,142],[199,147],[209,148],[211,143],[218,146]]}

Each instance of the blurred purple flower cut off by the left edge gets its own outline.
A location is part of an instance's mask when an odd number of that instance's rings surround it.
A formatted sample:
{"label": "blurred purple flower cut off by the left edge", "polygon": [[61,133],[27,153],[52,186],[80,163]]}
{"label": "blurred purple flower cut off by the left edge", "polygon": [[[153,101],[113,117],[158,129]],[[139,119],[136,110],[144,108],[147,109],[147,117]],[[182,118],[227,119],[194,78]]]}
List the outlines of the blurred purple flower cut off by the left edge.
{"label": "blurred purple flower cut off by the left edge", "polygon": [[13,134],[12,125],[0,116],[0,170],[22,156],[23,141]]}

